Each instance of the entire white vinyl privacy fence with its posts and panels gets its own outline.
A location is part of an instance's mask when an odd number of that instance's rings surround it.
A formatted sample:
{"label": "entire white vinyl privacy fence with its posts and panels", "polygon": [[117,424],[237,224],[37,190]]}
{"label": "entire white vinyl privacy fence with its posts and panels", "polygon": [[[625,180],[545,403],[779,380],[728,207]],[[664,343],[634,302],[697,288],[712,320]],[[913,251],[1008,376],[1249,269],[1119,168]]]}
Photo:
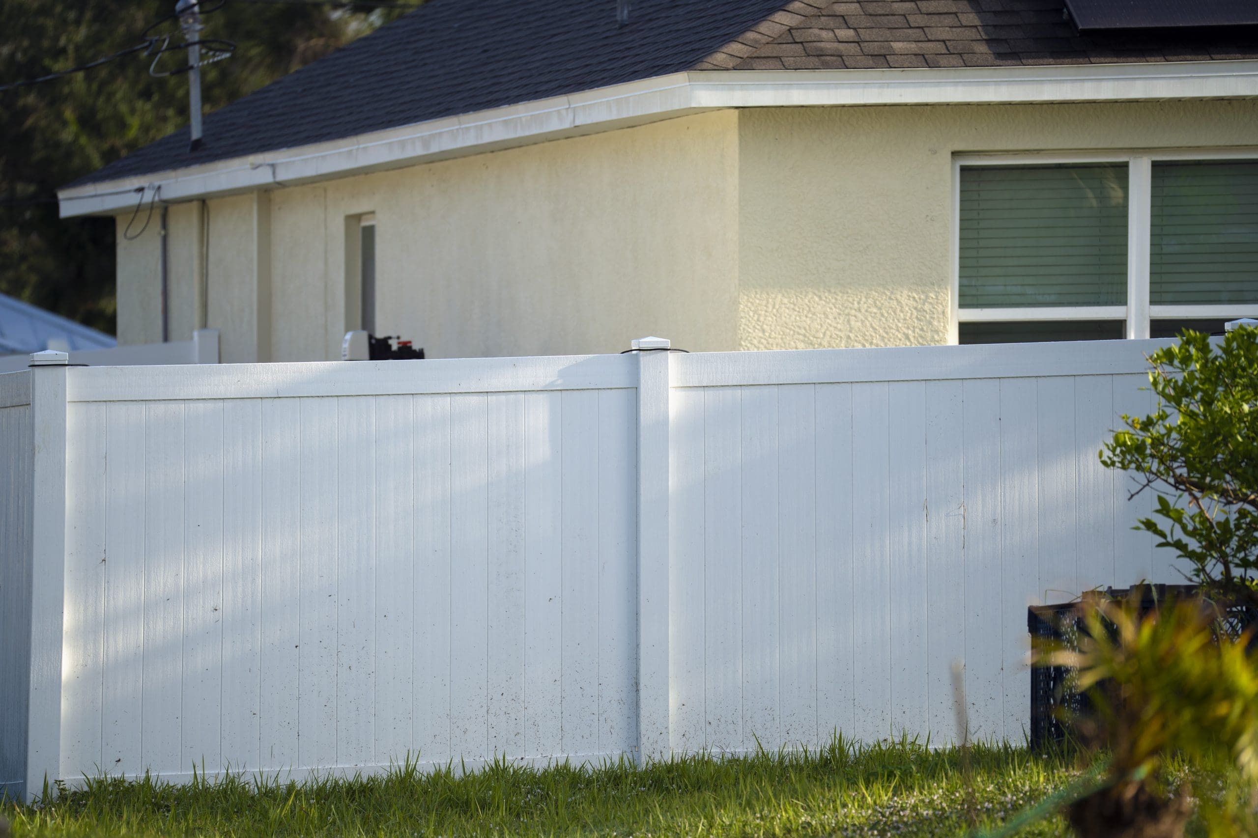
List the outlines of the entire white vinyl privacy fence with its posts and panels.
{"label": "entire white vinyl privacy fence with its posts and panels", "polygon": [[3,375],[0,780],[1020,741],[1155,345]]}

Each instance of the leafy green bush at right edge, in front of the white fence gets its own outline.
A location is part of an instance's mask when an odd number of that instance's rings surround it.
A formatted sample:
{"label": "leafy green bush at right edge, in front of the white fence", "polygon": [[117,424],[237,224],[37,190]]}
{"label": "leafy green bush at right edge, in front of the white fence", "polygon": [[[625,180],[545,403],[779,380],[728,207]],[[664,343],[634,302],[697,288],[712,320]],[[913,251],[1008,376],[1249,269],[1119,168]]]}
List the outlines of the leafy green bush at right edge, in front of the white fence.
{"label": "leafy green bush at right edge, in front of the white fence", "polygon": [[1150,356],[1157,409],[1125,415],[1101,462],[1157,492],[1140,527],[1191,565],[1206,593],[1258,606],[1258,328],[1222,346],[1184,332]]}

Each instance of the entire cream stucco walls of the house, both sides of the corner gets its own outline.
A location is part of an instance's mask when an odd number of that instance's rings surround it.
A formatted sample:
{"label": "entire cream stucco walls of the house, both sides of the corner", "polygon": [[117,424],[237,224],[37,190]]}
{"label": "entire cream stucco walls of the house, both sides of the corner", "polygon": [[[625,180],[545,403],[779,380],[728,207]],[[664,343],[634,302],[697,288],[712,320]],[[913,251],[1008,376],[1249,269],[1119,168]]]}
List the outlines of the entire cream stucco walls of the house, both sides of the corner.
{"label": "entire cream stucco walls of the house, both sides of the corner", "polygon": [[[338,357],[347,219],[375,213],[376,332],[430,357],[940,344],[955,154],[1239,146],[1254,125],[1250,101],[752,108],[216,199],[206,321],[224,361]],[[174,340],[199,213],[170,210]],[[155,228],[120,237],[125,342],[160,336]]]}

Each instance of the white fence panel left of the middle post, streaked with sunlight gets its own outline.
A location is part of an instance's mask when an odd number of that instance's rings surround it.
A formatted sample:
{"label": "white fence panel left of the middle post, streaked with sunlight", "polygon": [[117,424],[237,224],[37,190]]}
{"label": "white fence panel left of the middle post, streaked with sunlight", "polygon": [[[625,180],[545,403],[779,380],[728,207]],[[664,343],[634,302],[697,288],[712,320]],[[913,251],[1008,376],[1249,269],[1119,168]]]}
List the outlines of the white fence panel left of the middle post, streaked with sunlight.
{"label": "white fence panel left of the middle post, streaked with sunlight", "polygon": [[79,381],[63,775],[632,752],[635,359],[609,364],[536,391]]}

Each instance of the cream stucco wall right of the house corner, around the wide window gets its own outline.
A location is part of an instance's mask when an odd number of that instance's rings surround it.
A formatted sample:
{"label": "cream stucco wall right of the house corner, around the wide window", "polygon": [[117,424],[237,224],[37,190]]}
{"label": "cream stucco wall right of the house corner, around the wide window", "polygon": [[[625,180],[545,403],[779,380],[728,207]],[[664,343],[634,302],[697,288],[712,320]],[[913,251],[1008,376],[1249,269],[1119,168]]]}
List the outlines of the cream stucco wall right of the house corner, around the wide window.
{"label": "cream stucco wall right of the house corner, around the wide window", "polygon": [[949,337],[954,154],[1242,146],[1252,101],[755,108],[740,135],[740,349]]}

